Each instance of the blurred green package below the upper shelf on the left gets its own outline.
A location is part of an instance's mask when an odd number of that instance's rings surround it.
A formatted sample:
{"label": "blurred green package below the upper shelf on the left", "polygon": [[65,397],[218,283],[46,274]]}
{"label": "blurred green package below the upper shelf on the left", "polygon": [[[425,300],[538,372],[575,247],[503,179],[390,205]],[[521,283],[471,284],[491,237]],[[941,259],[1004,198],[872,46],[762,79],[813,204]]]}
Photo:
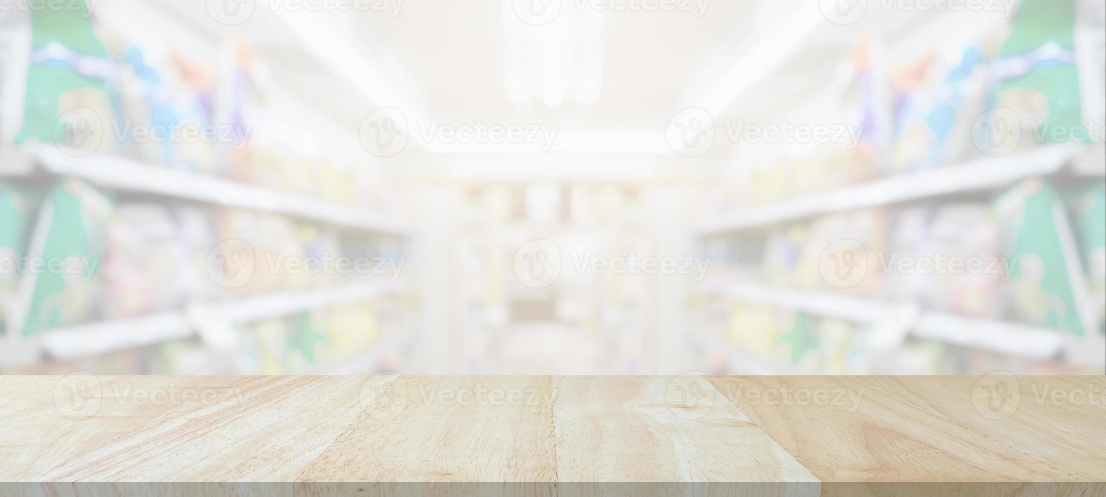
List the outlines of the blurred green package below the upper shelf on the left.
{"label": "blurred green package below the upper shelf on the left", "polygon": [[111,211],[111,200],[81,181],[65,180],[48,193],[28,255],[56,269],[29,273],[33,284],[13,319],[23,336],[90,318]]}

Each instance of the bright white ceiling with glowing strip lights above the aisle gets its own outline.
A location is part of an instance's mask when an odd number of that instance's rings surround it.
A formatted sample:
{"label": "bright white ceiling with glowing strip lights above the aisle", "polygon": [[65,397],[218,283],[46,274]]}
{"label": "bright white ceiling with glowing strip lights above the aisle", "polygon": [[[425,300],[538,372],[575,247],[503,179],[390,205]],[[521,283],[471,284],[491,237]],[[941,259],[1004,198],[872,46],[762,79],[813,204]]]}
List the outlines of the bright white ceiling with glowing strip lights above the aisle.
{"label": "bright white ceiling with glowing strip lights above the aisle", "polygon": [[[255,2],[254,14],[236,27],[217,22],[207,10],[210,2],[154,3],[212,40],[249,38],[279,84],[325,109],[340,126],[356,126],[372,110],[400,104],[445,123],[546,123],[584,133],[660,133],[688,106],[729,116],[764,115],[824,86],[859,35],[900,38],[932,19],[876,9],[842,27],[827,22],[814,0],[713,0],[701,18],[693,12],[592,13],[601,18],[601,42],[578,47],[599,51],[598,99],[580,105],[570,96],[550,108],[540,97],[521,105],[507,97],[508,49],[519,43],[519,33],[541,36],[550,29],[523,23],[507,0],[401,0],[395,17],[274,12],[270,3],[293,0],[244,1]],[[571,15],[575,1],[564,0],[561,15]],[[316,25],[320,35],[290,30],[290,23],[301,21]],[[364,71],[341,74],[321,53],[327,52],[326,43],[315,39],[323,34],[347,51],[342,65],[348,61]]]}

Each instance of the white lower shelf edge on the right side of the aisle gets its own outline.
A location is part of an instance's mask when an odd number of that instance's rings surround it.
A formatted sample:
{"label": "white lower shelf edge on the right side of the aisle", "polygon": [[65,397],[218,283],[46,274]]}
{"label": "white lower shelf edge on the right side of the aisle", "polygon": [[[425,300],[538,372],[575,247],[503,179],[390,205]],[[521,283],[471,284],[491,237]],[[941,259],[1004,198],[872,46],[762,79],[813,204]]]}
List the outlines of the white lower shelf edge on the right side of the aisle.
{"label": "white lower shelf edge on the right side of the aisle", "polygon": [[[714,284],[708,292],[743,302],[765,304],[854,322],[880,325],[902,316],[897,309],[909,304],[879,303],[860,297],[784,290],[749,284]],[[926,340],[971,347],[1033,360],[1047,360],[1078,340],[1067,331],[1015,322],[973,319],[924,310],[907,325],[910,335]]]}

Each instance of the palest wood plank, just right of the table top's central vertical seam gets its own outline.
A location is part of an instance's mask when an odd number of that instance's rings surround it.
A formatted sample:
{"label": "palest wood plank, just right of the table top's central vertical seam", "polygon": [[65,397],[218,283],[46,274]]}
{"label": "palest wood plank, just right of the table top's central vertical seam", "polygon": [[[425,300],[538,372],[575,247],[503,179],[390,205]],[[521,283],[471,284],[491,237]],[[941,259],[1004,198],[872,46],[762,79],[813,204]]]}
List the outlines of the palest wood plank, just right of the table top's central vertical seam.
{"label": "palest wood plank, just right of the table top's central vertical seam", "polygon": [[557,480],[607,483],[581,486],[581,494],[797,497],[821,491],[814,475],[706,377],[559,377],[553,389]]}

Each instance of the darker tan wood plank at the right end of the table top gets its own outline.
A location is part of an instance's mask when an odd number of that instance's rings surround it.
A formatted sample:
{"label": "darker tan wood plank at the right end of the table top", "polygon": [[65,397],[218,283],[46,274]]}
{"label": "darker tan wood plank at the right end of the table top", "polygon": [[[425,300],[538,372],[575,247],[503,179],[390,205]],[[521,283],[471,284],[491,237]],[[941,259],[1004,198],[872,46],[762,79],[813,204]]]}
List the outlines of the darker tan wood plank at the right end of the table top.
{"label": "darker tan wood plank at the right end of the table top", "polygon": [[[990,495],[978,486],[911,490],[834,483],[1106,482],[1102,377],[726,377],[711,382],[823,482],[823,495],[887,495],[888,488],[896,495]],[[1064,400],[1054,401],[1053,394]],[[952,487],[964,493],[953,494]],[[994,495],[1057,495],[1057,489],[1063,490],[1058,495],[1084,495],[1086,486],[1046,487],[988,488],[1000,489]]]}

